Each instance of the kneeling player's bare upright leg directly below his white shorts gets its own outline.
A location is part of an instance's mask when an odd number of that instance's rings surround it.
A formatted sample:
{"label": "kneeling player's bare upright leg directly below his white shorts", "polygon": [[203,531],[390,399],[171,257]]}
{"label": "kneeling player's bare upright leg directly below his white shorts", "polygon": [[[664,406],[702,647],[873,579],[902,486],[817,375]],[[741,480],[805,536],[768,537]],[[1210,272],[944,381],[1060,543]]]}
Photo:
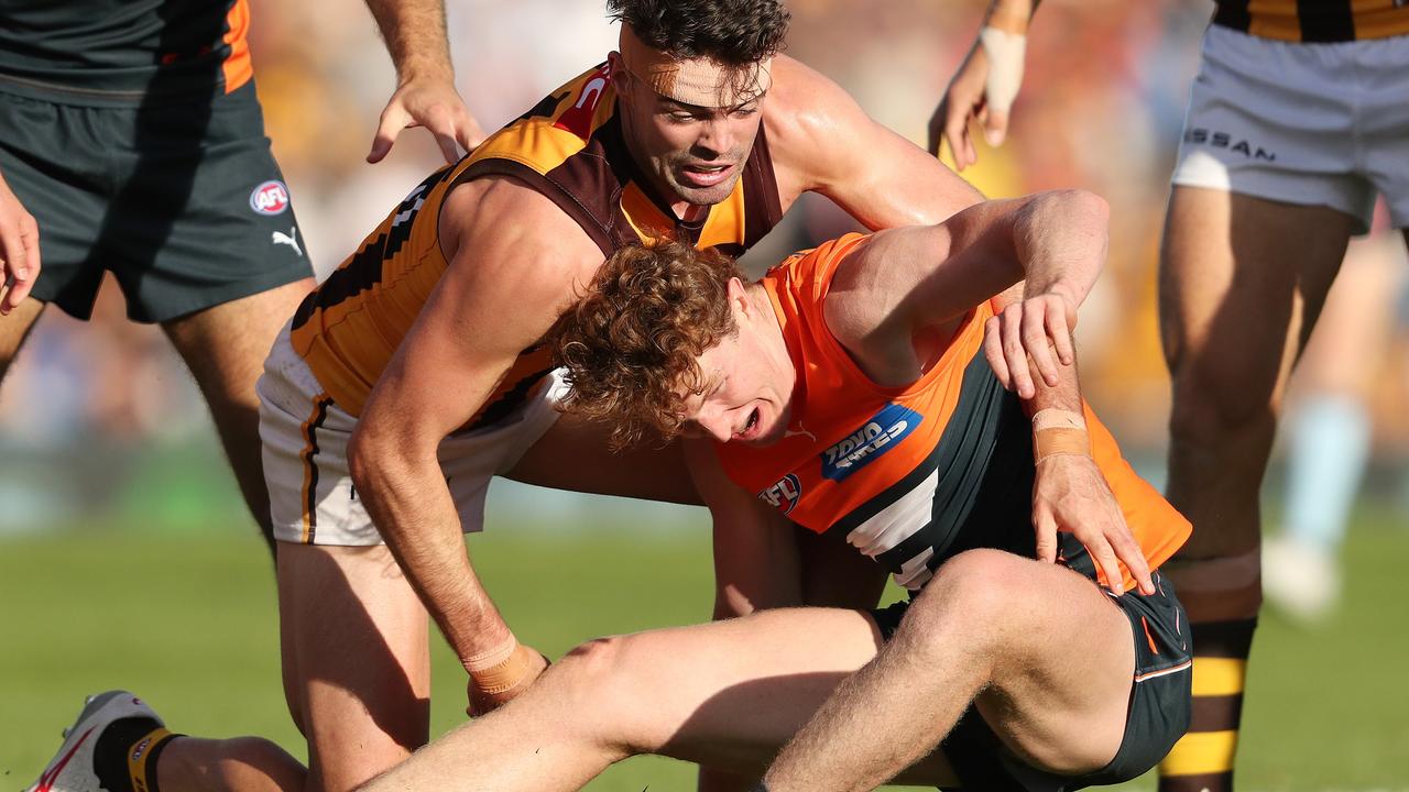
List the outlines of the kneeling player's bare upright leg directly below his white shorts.
{"label": "kneeling player's bare upright leg directly below his white shorts", "polygon": [[310,791],[352,789],[426,744],[428,617],[385,545],[279,543],[285,696]]}

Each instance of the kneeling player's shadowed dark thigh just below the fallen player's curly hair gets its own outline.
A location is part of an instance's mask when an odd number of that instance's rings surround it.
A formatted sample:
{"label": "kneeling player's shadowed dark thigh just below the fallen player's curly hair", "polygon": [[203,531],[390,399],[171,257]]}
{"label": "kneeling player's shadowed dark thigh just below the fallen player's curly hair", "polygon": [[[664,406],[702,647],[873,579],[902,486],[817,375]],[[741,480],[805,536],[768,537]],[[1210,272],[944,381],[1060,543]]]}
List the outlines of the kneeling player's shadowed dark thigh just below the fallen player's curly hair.
{"label": "kneeling player's shadowed dark thigh just below the fallen player's curly hair", "polygon": [[524,452],[507,476],[573,492],[702,503],[679,443],[617,454],[607,448],[610,428],[565,414]]}

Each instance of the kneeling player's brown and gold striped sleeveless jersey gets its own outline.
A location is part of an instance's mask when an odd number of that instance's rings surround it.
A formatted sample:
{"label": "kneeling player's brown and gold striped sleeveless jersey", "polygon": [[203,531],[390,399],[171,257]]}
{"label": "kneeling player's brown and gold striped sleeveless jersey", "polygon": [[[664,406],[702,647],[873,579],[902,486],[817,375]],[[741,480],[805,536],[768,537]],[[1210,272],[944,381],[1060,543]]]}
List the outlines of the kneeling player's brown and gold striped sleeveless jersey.
{"label": "kneeling player's brown and gold striped sleeveless jersey", "polygon": [[[697,221],[675,218],[626,148],[606,65],[568,85],[496,132],[454,166],[431,173],[299,306],[290,341],[328,396],[356,416],[402,338],[445,272],[438,218],[449,190],[509,176],[551,199],[607,256],[628,244],[672,237],[738,255],[782,217],[762,128],[738,183]],[[513,223],[513,217],[503,218]],[[466,261],[473,266],[472,261]],[[492,424],[534,393],[554,368],[531,345],[514,361],[468,427]]]}

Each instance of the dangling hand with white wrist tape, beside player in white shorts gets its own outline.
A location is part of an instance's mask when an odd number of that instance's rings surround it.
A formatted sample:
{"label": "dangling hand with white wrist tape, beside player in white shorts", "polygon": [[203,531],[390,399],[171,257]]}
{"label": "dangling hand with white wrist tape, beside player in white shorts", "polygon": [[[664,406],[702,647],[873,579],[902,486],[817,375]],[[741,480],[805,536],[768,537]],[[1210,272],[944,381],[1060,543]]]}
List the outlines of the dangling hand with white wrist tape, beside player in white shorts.
{"label": "dangling hand with white wrist tape, beside player in white shorts", "polygon": [[978,162],[969,121],[983,127],[988,145],[1002,145],[1007,135],[1009,110],[1023,83],[1027,24],[1037,3],[993,0],[974,47],[930,117],[929,149],[938,155],[940,140],[948,141],[960,171]]}

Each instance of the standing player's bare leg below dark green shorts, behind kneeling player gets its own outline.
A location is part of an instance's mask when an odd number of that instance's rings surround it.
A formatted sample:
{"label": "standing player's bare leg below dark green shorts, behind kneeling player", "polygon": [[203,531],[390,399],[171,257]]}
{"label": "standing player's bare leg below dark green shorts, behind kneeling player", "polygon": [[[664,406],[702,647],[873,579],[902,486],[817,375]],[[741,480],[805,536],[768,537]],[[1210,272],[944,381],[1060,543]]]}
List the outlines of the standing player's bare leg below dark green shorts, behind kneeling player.
{"label": "standing player's bare leg below dark green shorts, behind kneeling player", "polygon": [[307,278],[162,324],[200,386],[240,492],[273,548],[255,380],[275,337],[313,287]]}

